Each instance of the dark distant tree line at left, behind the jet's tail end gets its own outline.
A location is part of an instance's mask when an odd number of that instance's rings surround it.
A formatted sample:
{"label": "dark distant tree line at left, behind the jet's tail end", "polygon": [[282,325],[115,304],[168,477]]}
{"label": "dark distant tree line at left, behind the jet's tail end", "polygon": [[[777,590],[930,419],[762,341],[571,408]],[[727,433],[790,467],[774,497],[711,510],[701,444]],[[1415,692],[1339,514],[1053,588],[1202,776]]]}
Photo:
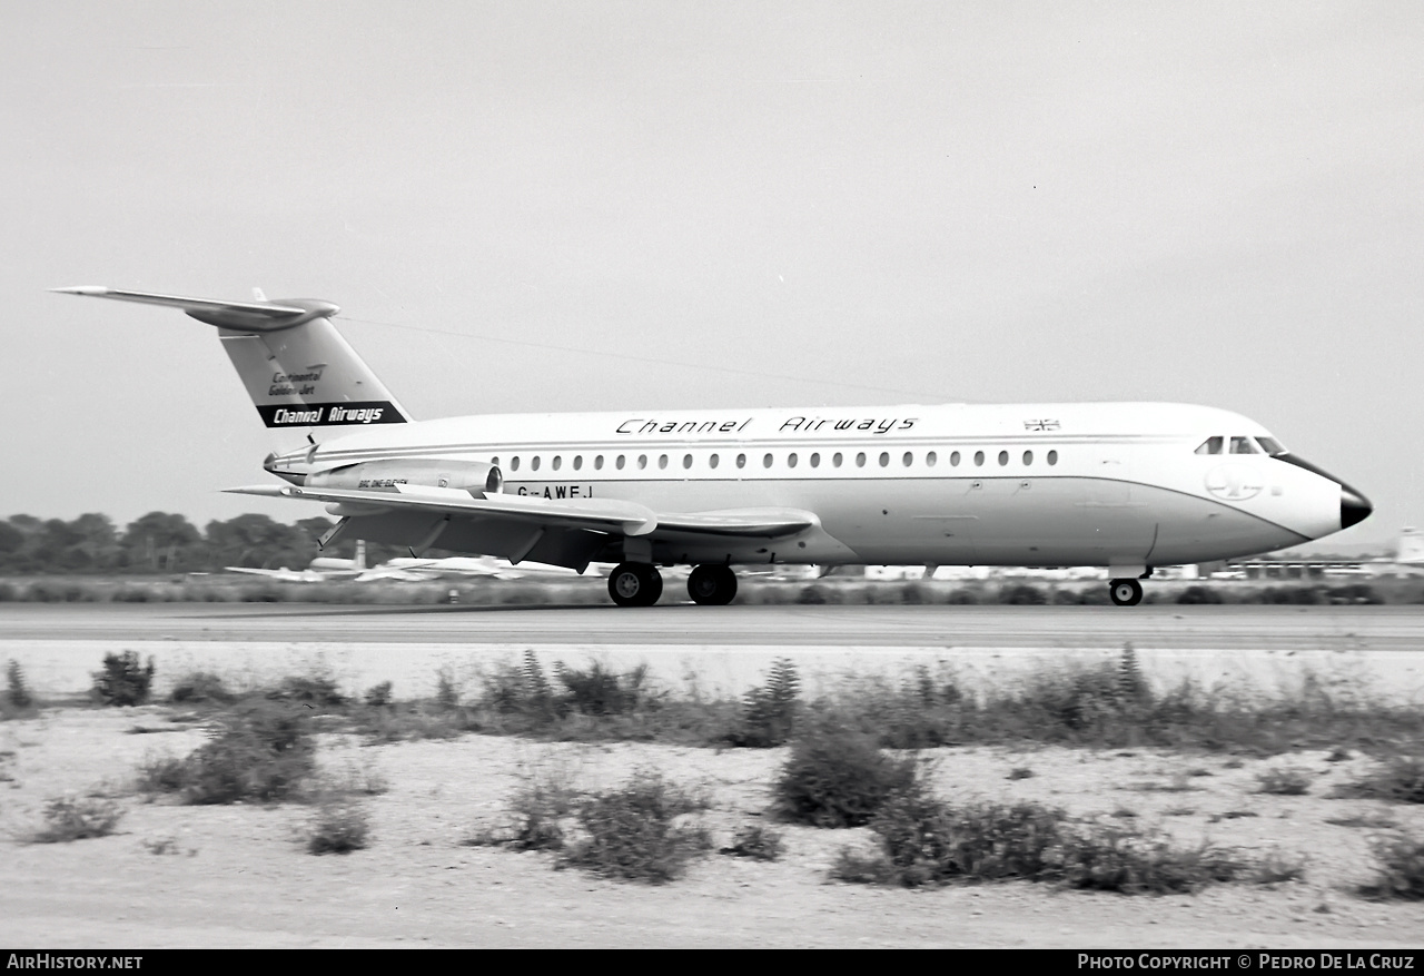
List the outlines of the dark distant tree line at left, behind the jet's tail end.
{"label": "dark distant tree line at left, behind the jet's tail end", "polygon": [[[77,519],[10,516],[0,521],[0,573],[212,573],[225,566],[302,569],[318,554],[352,559],[355,543],[319,553],[316,540],[333,526],[316,516],[283,524],[263,514],[209,521],[198,531],[188,519],[150,512],[124,529],[105,514]],[[404,556],[392,546],[370,546],[367,564]]]}

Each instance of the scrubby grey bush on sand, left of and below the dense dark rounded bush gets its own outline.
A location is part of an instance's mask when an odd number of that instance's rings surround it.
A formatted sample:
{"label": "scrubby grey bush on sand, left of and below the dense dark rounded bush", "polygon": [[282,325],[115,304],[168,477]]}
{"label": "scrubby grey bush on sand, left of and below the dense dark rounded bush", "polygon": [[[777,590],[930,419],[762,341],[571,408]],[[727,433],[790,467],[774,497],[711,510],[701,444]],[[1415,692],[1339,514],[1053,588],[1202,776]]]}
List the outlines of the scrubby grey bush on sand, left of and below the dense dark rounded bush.
{"label": "scrubby grey bush on sand, left of and below the dense dark rounded bush", "polygon": [[711,848],[706,831],[676,824],[706,802],[639,769],[621,789],[585,798],[578,822],[587,836],[568,846],[560,865],[605,878],[664,883],[682,876],[688,862]]}

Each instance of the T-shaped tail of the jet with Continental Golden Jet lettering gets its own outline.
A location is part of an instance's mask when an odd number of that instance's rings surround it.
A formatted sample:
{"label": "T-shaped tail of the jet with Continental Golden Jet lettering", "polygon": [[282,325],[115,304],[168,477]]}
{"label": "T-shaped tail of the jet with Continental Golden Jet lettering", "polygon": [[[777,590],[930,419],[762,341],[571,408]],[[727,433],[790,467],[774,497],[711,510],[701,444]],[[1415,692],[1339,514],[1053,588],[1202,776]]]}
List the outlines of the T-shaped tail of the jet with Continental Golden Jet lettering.
{"label": "T-shaped tail of the jet with Continental Golden Jet lettering", "polygon": [[218,338],[269,427],[333,427],[409,423],[410,415],[376,379],[332,325],[340,309],[310,298],[224,302],[125,292],[114,288],[56,288],[67,295],[171,305],[218,326]]}

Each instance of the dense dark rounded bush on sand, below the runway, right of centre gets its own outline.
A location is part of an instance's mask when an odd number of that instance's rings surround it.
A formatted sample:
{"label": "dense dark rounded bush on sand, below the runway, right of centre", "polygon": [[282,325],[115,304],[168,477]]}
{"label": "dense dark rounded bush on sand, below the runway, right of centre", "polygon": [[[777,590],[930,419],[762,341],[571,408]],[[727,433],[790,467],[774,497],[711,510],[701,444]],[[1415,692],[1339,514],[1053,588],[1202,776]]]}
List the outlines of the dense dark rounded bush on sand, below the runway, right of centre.
{"label": "dense dark rounded bush on sand, below the runway, right of centre", "polygon": [[779,814],[812,826],[863,826],[896,792],[918,781],[913,758],[896,759],[873,737],[823,720],[793,744],[773,784]]}

